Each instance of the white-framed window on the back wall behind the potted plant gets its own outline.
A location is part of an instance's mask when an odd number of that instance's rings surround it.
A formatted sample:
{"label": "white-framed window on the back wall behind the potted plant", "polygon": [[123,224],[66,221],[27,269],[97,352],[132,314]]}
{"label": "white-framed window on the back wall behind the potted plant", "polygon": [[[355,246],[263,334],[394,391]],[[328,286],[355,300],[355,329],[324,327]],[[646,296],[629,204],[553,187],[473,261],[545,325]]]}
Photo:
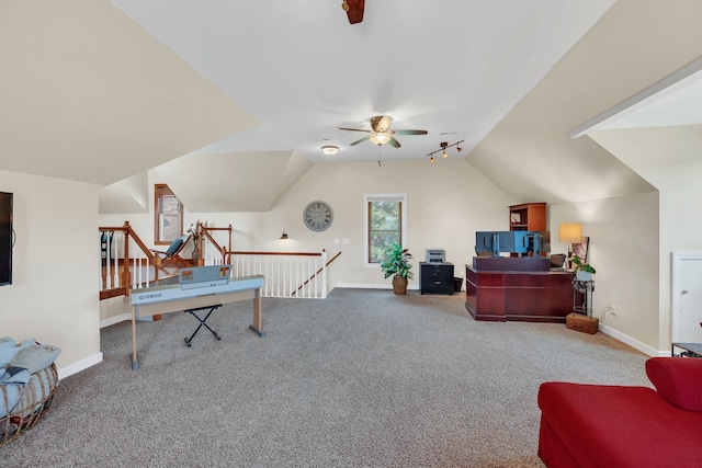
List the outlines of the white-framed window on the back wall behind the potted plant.
{"label": "white-framed window on the back wall behind the potted plant", "polygon": [[393,242],[405,243],[405,195],[365,195],[365,263],[378,264]]}

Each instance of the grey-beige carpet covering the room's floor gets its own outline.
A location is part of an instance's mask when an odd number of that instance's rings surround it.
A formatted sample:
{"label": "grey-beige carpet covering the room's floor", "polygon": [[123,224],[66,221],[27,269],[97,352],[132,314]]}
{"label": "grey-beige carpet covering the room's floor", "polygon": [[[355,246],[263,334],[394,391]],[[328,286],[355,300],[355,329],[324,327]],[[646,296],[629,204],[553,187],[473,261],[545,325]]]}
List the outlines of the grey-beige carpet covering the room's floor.
{"label": "grey-beige carpet covering the room's floor", "polygon": [[[564,324],[476,322],[462,295],[336,289],[210,321],[102,331],[105,359],[61,381],[2,467],[541,467],[539,385],[645,385],[646,356]],[[37,336],[41,339],[41,336]]]}

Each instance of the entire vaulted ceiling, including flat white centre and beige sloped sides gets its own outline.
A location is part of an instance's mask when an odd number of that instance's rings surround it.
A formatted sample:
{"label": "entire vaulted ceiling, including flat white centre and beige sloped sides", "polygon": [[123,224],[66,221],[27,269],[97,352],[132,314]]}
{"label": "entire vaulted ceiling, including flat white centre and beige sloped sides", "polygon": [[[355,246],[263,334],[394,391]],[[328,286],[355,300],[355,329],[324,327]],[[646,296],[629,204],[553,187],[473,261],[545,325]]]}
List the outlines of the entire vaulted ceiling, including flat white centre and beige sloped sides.
{"label": "entire vaulted ceiling, including flat white centre and beige sloped sides", "polygon": [[[610,152],[567,134],[683,60],[665,48],[693,14],[673,10],[366,0],[351,25],[336,0],[0,0],[0,169],[109,186],[101,210],[118,213],[144,206],[135,184],[157,168],[191,210],[264,210],[312,164],[428,159],[441,141],[465,140],[450,157],[518,201],[646,191]],[[626,61],[643,54],[649,69]],[[337,129],[369,128],[378,114],[428,135],[378,151]],[[609,175],[581,195],[564,168]],[[240,183],[192,183],[225,173]]]}

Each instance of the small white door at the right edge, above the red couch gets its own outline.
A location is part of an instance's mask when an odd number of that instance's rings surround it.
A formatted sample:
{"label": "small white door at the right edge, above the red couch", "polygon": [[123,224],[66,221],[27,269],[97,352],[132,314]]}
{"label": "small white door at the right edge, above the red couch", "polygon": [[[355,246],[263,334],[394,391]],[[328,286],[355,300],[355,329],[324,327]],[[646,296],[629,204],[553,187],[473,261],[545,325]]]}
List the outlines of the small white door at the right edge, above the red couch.
{"label": "small white door at the right edge, above the red couch", "polygon": [[702,343],[702,252],[672,253],[672,341]]}

